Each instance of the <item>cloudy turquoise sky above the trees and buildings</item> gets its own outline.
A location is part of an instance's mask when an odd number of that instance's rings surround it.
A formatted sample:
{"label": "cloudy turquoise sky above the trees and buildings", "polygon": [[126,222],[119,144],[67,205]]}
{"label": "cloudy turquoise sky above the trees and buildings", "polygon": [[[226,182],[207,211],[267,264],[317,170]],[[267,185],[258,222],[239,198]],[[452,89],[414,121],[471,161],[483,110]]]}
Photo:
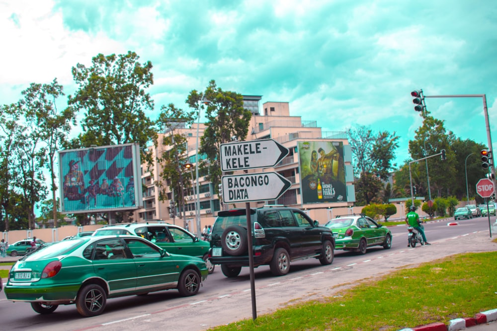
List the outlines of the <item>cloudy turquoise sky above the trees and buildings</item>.
{"label": "cloudy turquoise sky above the trees and buildings", "polygon": [[0,0],[0,104],[54,78],[73,94],[73,66],[134,51],[153,64],[153,120],[214,79],[261,95],[261,109],[288,102],[324,132],[395,132],[401,165],[422,123],[416,89],[480,95],[425,101],[446,130],[483,144],[485,94],[497,141],[496,17],[490,0]]}

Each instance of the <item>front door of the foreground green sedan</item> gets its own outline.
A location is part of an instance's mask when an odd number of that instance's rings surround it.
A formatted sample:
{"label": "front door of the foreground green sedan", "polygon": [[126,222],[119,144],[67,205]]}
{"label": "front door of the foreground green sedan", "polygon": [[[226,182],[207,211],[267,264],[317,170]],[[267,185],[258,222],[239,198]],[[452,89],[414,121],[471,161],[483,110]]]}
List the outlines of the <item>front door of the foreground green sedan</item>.
{"label": "front door of the foreground green sedan", "polygon": [[136,266],[136,291],[153,291],[178,280],[180,270],[169,255],[161,257],[156,246],[141,238],[124,241]]}

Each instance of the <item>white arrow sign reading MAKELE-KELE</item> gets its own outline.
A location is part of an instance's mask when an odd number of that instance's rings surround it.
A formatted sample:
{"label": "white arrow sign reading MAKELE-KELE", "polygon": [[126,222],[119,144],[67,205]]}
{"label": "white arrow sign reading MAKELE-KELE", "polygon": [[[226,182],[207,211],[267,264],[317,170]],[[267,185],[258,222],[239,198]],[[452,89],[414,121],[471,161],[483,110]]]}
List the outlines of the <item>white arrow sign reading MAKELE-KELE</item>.
{"label": "white arrow sign reading MAKELE-KELE", "polygon": [[273,139],[221,144],[221,171],[272,167],[288,154],[288,148]]}

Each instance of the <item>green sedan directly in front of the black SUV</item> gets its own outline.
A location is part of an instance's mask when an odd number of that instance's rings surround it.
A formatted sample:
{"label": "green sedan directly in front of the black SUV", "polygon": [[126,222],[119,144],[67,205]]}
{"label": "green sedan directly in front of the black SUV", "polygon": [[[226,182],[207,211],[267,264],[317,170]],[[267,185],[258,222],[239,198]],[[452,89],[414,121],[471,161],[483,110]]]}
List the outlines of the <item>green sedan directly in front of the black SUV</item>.
{"label": "green sedan directly in front of the black SUV", "polygon": [[368,247],[392,247],[392,232],[389,228],[364,215],[339,216],[325,226],[333,232],[335,250],[356,251],[366,254]]}

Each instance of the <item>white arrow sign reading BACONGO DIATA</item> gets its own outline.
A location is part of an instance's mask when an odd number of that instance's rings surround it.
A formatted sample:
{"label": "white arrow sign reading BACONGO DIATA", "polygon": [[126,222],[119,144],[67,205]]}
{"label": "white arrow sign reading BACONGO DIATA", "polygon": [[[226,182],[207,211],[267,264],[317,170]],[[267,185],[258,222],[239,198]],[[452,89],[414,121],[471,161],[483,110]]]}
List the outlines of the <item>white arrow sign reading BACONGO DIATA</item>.
{"label": "white arrow sign reading BACONGO DIATA", "polygon": [[223,202],[278,199],[292,183],[276,172],[223,176]]}

